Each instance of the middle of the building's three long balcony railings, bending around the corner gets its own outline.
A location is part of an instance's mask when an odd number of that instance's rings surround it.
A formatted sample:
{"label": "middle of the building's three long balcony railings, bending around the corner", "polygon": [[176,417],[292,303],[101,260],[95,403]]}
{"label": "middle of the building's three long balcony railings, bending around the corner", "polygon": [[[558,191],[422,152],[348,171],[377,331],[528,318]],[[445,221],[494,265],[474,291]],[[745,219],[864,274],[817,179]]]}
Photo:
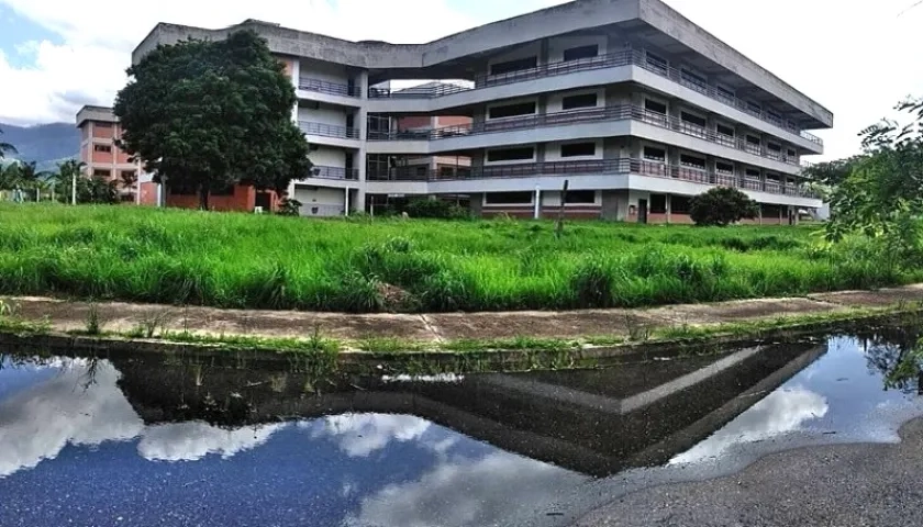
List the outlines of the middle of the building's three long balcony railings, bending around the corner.
{"label": "middle of the building's three long balcony railings, bending around the corner", "polygon": [[747,143],[743,138],[731,137],[702,126],[682,121],[681,119],[652,112],[638,105],[618,105],[603,108],[589,108],[582,110],[570,110],[566,112],[554,112],[524,117],[511,117],[482,123],[471,123],[457,126],[444,126],[434,130],[407,131],[407,132],[368,132],[368,141],[438,141],[449,137],[463,137],[477,134],[491,134],[509,132],[513,130],[535,128],[543,126],[559,126],[565,124],[577,124],[594,121],[624,121],[634,120],[643,123],[672,130],[681,134],[698,137],[700,139],[715,143],[722,146],[736,148],[749,154],[765,157],[787,165],[800,166],[798,157],[788,157],[779,152],[770,150],[759,145]]}

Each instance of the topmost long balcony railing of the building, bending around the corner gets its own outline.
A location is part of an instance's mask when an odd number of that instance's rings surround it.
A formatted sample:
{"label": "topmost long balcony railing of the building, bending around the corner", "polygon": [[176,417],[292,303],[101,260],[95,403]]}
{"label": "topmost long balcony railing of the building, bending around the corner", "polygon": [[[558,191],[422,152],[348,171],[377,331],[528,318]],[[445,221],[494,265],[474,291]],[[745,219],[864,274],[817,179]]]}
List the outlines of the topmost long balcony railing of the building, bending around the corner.
{"label": "topmost long balcony railing of the building, bending around the corner", "polygon": [[449,83],[441,83],[436,86],[427,86],[422,88],[409,88],[404,90],[390,90],[382,88],[369,88],[369,98],[411,98],[411,99],[433,99],[444,97],[462,91],[478,90],[482,88],[490,88],[493,86],[509,85],[513,82],[522,82],[526,80],[534,80],[544,77],[552,77],[556,75],[572,74],[577,71],[587,71],[593,69],[614,68],[627,65],[640,66],[653,74],[666,77],[686,88],[692,89],[711,99],[722,102],[729,106],[741,110],[749,115],[753,115],[761,121],[779,126],[788,132],[797,134],[812,143],[823,146],[824,142],[803,130],[797,124],[782,120],[780,116],[767,112],[765,110],[755,110],[741,99],[721,90],[715,86],[708,85],[701,80],[694,79],[692,76],[674,68],[665,66],[661,63],[654,61],[647,58],[646,54],[640,49],[627,49],[624,52],[613,53],[609,55],[600,55],[597,57],[582,58],[578,60],[566,60],[559,63],[543,64],[541,66],[522,69],[519,71],[511,71],[503,75],[481,75],[475,77],[474,87],[463,87]]}

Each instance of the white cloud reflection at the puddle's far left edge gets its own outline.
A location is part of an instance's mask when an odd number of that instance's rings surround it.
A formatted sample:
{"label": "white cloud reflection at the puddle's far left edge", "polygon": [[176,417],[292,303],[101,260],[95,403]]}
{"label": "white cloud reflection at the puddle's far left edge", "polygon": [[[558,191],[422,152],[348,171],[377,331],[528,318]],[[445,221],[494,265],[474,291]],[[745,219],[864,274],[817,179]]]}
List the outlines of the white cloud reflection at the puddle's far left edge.
{"label": "white cloud reflection at the puddle's far left edge", "polygon": [[108,361],[65,360],[57,375],[0,402],[0,478],[54,459],[70,445],[96,446],[137,436],[144,427]]}

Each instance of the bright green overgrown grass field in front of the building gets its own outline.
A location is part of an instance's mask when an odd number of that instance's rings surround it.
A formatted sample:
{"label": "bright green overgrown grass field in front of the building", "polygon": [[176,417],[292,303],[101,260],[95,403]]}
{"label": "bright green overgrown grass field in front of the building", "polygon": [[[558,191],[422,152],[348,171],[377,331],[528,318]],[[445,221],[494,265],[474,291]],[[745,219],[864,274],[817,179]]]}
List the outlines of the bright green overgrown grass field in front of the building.
{"label": "bright green overgrown grass field in front of the building", "polygon": [[316,221],[0,204],[0,294],[346,312],[646,306],[923,278],[811,227]]}

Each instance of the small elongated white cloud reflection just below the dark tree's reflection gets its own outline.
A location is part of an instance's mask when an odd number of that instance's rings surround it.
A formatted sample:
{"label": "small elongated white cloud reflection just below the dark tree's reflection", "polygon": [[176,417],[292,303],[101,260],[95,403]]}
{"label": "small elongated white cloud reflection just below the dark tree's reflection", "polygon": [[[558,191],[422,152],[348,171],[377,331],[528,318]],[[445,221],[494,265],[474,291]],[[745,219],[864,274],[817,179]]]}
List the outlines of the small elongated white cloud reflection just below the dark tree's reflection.
{"label": "small elongated white cloud reflection just below the dark tree's reflection", "polygon": [[151,461],[194,461],[209,453],[230,458],[256,448],[285,425],[262,425],[224,429],[198,421],[149,426],[137,452]]}

